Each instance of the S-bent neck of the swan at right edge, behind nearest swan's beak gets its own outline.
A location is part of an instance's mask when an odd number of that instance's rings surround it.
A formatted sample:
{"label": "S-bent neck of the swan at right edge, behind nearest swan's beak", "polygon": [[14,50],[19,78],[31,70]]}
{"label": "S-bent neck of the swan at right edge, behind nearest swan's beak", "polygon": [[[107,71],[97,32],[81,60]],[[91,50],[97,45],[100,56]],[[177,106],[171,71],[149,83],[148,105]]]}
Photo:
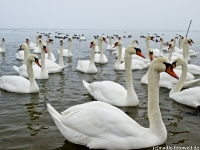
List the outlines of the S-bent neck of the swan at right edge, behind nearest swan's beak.
{"label": "S-bent neck of the swan at right edge, behind nearest swan's beak", "polygon": [[169,97],[171,97],[175,93],[180,92],[183,87],[183,84],[184,84],[186,76],[187,76],[187,64],[182,63],[181,67],[182,67],[181,77],[180,77],[179,81],[177,82],[177,84],[171,89],[171,91],[169,93]]}

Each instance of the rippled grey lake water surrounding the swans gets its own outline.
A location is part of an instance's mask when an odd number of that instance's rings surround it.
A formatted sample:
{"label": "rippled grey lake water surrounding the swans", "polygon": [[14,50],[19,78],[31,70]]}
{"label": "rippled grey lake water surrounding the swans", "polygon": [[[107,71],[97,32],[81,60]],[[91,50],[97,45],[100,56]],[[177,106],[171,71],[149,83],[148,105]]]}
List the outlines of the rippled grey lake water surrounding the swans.
{"label": "rippled grey lake water surrounding the swans", "polygon": [[[50,36],[54,40],[51,50],[57,59],[56,62],[58,62],[59,39],[55,38],[55,35],[57,35],[55,32],[62,32],[71,36],[84,34],[87,40],[73,39],[73,57],[64,57],[64,63],[67,67],[61,73],[50,74],[48,80],[37,80],[40,88],[39,93],[17,94],[0,89],[0,150],[88,149],[85,146],[73,144],[62,136],[46,109],[46,103],[50,103],[58,112],[62,112],[71,106],[95,101],[84,88],[83,79],[89,83],[110,80],[126,87],[125,72],[114,70],[116,59],[112,51],[106,50],[108,43],[103,43],[103,50],[108,58],[108,63],[105,65],[96,64],[98,69],[96,74],[84,74],[76,71],[78,60],[89,60],[91,52],[89,46],[94,35],[120,34],[126,36],[126,38],[122,38],[124,47],[130,45],[133,39],[137,39],[142,53],[146,56],[145,39],[140,38],[141,32],[144,35],[146,35],[146,32],[149,32],[150,35],[154,33],[164,34],[165,41],[169,41],[176,34],[184,36],[186,34],[186,31],[4,29],[0,30],[0,38],[4,37],[6,40],[6,53],[0,53],[0,76],[17,76],[13,65],[20,66],[22,64],[15,56],[17,46],[25,43],[26,37],[29,37],[31,42],[36,43],[35,37],[39,34],[37,32],[51,33]],[[127,35],[132,35],[132,37],[127,38]],[[195,42],[190,49],[200,52],[200,32],[190,31],[188,37]],[[42,39],[46,41],[45,36]],[[116,40],[115,38],[113,43]],[[109,42],[108,39],[107,42]],[[151,42],[150,45],[152,48],[159,48],[160,43]],[[67,39],[65,39],[64,47],[68,47]],[[40,57],[40,55],[38,56]],[[197,54],[197,57],[192,57],[190,63],[200,65],[199,58],[200,54]],[[140,82],[146,71],[147,69],[133,71],[133,84],[140,100],[139,106],[119,108],[140,125],[149,127],[147,85]],[[200,76],[195,76],[195,78],[200,78]],[[196,86],[200,86],[200,84]],[[160,88],[161,115],[168,132],[167,140],[161,146],[198,146],[200,149],[200,117],[191,114],[194,108],[170,99],[169,91],[169,89]],[[188,101],[191,99],[188,99]]]}

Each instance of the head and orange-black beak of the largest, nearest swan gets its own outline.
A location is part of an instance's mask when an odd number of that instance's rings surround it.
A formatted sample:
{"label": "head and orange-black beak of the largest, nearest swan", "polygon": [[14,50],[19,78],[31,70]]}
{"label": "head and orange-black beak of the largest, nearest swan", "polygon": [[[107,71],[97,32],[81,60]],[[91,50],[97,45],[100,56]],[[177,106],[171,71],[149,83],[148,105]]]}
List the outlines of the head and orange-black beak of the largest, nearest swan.
{"label": "head and orange-black beak of the largest, nearest swan", "polygon": [[157,71],[158,73],[167,72],[172,77],[179,79],[179,77],[173,71],[172,64],[170,64],[169,61],[166,58],[160,57],[160,58],[154,59],[151,62],[149,69],[153,69],[154,71]]}

